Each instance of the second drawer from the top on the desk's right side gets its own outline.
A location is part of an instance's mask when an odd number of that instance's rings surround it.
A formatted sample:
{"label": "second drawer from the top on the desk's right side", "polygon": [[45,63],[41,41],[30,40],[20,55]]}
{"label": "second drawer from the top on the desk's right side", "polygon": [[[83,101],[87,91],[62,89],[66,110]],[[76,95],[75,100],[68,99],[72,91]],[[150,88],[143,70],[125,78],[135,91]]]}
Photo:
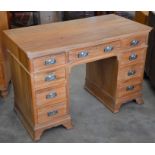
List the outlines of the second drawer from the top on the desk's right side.
{"label": "second drawer from the top on the desk's right side", "polygon": [[146,48],[124,52],[121,55],[120,65],[137,64],[140,62],[144,63],[145,56],[146,56]]}

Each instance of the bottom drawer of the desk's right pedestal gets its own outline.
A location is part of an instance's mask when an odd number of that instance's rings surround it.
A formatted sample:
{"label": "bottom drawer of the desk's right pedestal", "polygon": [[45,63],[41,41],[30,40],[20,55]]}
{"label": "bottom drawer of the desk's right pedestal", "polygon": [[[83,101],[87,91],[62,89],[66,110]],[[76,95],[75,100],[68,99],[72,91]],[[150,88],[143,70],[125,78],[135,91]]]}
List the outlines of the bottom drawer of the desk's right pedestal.
{"label": "bottom drawer of the desk's right pedestal", "polygon": [[141,91],[142,90],[141,82],[142,82],[141,79],[135,78],[132,81],[129,81],[125,84],[122,83],[122,86],[120,86],[117,90],[118,92],[117,97],[123,97]]}

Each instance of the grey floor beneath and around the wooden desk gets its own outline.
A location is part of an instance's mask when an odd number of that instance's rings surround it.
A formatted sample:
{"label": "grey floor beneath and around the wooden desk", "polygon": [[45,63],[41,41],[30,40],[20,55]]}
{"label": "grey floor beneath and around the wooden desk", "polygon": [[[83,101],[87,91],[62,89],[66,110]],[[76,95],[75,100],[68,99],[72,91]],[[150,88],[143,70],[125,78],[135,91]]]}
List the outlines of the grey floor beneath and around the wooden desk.
{"label": "grey floor beneath and around the wooden desk", "polygon": [[[72,69],[71,115],[74,128],[62,126],[44,132],[39,142],[155,142],[155,90],[144,81],[144,105],[129,102],[111,113],[83,89],[85,65]],[[0,98],[0,142],[33,142],[13,111],[13,88]]]}

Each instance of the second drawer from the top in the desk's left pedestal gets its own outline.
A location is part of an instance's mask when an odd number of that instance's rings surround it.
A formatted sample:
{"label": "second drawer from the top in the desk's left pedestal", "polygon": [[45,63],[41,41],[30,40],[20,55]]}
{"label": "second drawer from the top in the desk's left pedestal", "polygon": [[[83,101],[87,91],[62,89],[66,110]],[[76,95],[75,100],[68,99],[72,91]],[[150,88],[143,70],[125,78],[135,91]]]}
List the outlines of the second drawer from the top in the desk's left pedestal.
{"label": "second drawer from the top in the desk's left pedestal", "polygon": [[35,88],[47,88],[51,85],[55,85],[60,82],[65,81],[65,68],[51,70],[47,72],[35,73],[34,74],[34,83]]}

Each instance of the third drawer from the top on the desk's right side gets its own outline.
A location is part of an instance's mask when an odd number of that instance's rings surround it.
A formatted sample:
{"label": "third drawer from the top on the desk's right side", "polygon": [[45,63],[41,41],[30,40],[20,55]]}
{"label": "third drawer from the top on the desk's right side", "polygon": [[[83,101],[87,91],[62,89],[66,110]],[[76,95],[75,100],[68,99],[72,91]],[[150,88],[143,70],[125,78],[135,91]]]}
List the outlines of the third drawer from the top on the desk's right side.
{"label": "third drawer from the top on the desk's right side", "polygon": [[122,67],[118,72],[118,81],[125,81],[135,77],[143,78],[144,63]]}

